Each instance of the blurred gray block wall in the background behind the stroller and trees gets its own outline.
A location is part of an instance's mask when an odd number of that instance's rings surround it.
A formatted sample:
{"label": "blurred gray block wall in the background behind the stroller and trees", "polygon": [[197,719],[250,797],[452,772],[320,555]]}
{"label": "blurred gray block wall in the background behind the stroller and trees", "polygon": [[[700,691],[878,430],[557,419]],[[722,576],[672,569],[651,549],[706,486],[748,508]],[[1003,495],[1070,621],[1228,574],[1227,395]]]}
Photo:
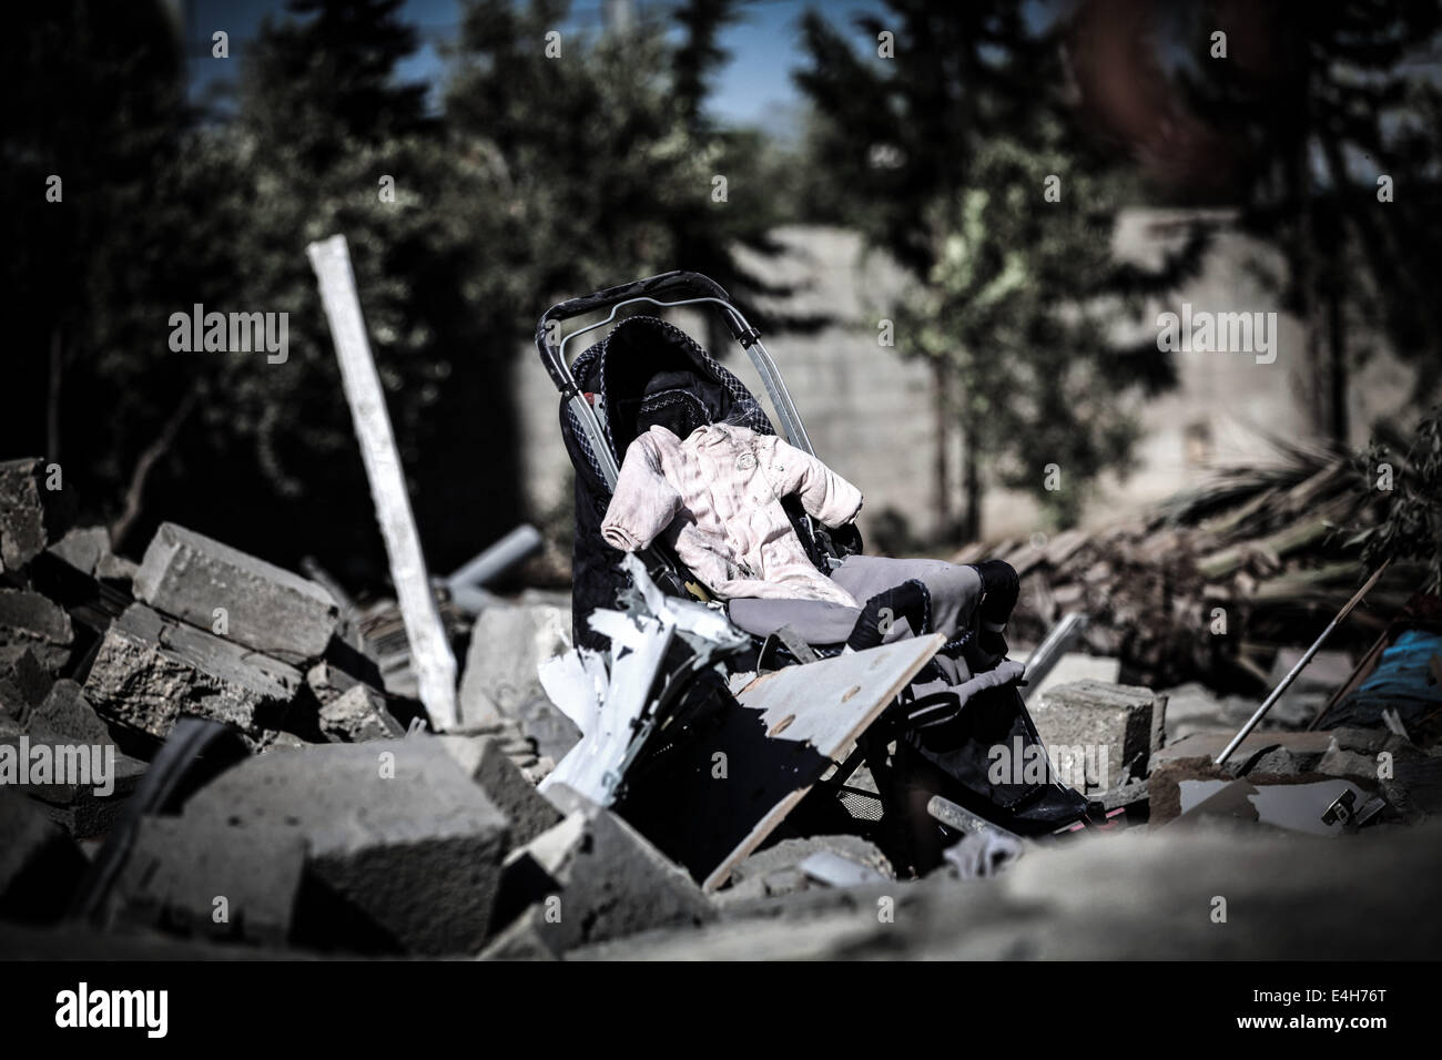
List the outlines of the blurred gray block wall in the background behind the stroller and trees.
{"label": "blurred gray block wall in the background behind the stroller and trees", "polygon": [[[1139,261],[1155,260],[1178,238],[1181,219],[1184,215],[1177,212],[1129,211],[1119,221],[1116,249]],[[796,226],[782,229],[779,237],[787,247],[783,258],[751,257],[747,264],[802,288],[782,309],[836,316],[835,323],[813,335],[766,336],[818,454],[864,490],[864,532],[888,506],[906,513],[914,531],[932,532],[937,431],[947,431],[953,474],[959,450],[950,425],[937,423],[924,366],[878,343],[877,322],[888,316],[887,306],[904,291],[906,277],[880,255],[864,254],[859,238],[848,231]],[[1255,275],[1256,267],[1276,268],[1278,262],[1246,238],[1223,235],[1194,283],[1158,303],[1133,336],[1118,337],[1155,335],[1151,322],[1156,313],[1180,313],[1182,301],[1191,301],[1194,310],[1275,309]],[[678,316],[676,322],[705,342],[696,317]],[[568,352],[574,356],[584,345],[578,340]],[[1180,388],[1138,410],[1145,437],[1136,472],[1126,482],[1103,483],[1087,509],[1087,524],[1113,521],[1200,483],[1210,460],[1266,459],[1268,433],[1312,437],[1315,394],[1298,320],[1279,314],[1278,356],[1270,365],[1259,365],[1246,353],[1177,358]],[[730,343],[722,359],[753,392],[764,394],[738,346]],[[1354,441],[1363,443],[1370,423],[1403,404],[1410,374],[1394,359],[1376,356],[1354,382],[1353,433]],[[528,498],[536,513],[545,513],[570,500],[570,461],[557,425],[557,394],[534,349],[523,356],[518,392]],[[1064,454],[1058,454],[1058,463],[1064,469]],[[1041,473],[1037,469],[1038,477]],[[983,518],[988,538],[1050,529],[1028,498],[1004,490],[988,495]]]}

